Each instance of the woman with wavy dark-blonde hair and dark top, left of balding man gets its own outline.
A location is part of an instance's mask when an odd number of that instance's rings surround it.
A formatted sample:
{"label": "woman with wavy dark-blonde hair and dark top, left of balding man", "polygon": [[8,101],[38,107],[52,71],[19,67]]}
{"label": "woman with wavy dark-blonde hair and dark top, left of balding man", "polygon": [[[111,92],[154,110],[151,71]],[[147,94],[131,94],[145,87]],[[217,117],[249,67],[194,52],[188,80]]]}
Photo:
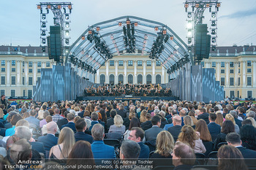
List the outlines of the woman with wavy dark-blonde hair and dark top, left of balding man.
{"label": "woman with wavy dark-blonde hair and dark top, left of balding man", "polygon": [[170,160],[172,158],[171,152],[174,148],[173,136],[168,131],[161,131],[157,135],[156,151],[151,155],[151,159],[159,159],[153,161],[153,167],[156,166],[172,166]]}

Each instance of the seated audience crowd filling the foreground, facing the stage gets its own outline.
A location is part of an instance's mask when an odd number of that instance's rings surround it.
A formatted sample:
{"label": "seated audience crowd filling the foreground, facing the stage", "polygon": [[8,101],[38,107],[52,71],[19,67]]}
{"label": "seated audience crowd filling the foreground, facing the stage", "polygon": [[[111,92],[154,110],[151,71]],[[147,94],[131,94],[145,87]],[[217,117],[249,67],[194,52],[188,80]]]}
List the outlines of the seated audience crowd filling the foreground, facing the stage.
{"label": "seated audience crowd filling the foreground, facing the stage", "polygon": [[[124,161],[120,169],[195,169],[202,164],[197,158],[206,165],[212,155],[217,169],[248,169],[256,164],[246,160],[256,159],[255,111],[255,104],[232,101],[4,102],[0,169],[56,163],[100,169],[102,160],[116,159]],[[138,168],[136,160],[151,163]]]}

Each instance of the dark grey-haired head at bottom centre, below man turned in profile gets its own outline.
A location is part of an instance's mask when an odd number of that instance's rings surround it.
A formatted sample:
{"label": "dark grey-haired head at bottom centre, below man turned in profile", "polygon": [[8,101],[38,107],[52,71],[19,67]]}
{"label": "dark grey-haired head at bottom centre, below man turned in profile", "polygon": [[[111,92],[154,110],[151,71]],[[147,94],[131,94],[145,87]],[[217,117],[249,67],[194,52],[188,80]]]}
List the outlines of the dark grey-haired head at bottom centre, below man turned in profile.
{"label": "dark grey-haired head at bottom centre, below man turned in profile", "polygon": [[132,140],[127,140],[122,142],[120,147],[120,159],[127,160],[133,159],[137,160],[140,155],[140,145]]}

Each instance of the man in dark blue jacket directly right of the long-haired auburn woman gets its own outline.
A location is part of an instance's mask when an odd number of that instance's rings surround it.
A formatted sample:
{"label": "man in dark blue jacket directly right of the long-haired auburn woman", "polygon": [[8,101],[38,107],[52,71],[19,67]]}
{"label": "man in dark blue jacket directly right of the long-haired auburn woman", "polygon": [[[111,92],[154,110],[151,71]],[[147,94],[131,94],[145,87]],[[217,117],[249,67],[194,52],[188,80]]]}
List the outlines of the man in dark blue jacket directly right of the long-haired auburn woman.
{"label": "man in dark blue jacket directly right of the long-haired auburn woman", "polygon": [[218,134],[220,134],[220,131],[221,131],[221,126],[215,123],[216,119],[217,119],[217,115],[215,113],[209,114],[210,123],[207,126],[208,126],[208,130],[210,131],[211,139],[213,142],[217,138]]}

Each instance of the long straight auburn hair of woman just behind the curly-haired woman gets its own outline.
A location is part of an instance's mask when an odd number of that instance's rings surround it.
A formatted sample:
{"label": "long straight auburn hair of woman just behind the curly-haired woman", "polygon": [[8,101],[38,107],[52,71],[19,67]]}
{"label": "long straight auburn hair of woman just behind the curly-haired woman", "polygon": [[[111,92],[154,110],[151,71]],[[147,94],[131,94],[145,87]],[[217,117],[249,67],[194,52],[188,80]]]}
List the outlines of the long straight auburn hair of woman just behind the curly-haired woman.
{"label": "long straight auburn hair of woman just behind the curly-haired woman", "polygon": [[203,141],[211,141],[211,134],[208,130],[208,126],[205,120],[200,119],[197,121],[197,125],[195,125],[195,131],[198,131],[200,133],[200,139],[202,139]]}

